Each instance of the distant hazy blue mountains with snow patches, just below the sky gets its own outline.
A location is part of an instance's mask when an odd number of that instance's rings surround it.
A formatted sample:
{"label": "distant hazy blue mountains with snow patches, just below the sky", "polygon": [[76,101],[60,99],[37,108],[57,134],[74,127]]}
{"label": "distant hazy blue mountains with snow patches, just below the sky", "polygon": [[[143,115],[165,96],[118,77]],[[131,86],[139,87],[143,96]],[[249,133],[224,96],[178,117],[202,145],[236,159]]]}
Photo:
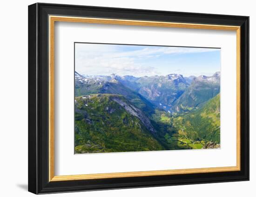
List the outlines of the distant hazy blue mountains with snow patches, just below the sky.
{"label": "distant hazy blue mountains with snow patches, just below the sky", "polygon": [[[168,74],[166,76],[83,76],[75,72],[75,81],[81,90],[99,92],[108,91],[116,83],[119,90],[127,88],[139,93],[148,101],[166,111],[180,111],[179,107],[194,108],[198,104],[209,100],[220,91],[220,72],[213,76],[189,76]],[[116,87],[117,87],[116,86]],[[102,90],[103,91],[103,90]],[[113,90],[114,91],[114,90]],[[197,98],[197,97],[200,98]]]}

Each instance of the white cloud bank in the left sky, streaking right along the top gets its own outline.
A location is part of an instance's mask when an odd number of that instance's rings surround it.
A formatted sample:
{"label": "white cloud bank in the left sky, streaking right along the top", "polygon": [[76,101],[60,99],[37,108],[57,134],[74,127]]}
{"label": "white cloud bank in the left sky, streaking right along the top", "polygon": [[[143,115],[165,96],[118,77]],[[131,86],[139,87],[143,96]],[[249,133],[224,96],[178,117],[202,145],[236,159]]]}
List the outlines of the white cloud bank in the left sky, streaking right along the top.
{"label": "white cloud bank in the left sky, streaking right along the top", "polygon": [[[148,65],[151,58],[167,54],[186,54],[218,51],[209,48],[131,46],[116,44],[75,44],[75,70],[88,75],[156,75],[155,67]],[[136,50],[136,48],[138,48]],[[143,61],[139,61],[143,60]]]}

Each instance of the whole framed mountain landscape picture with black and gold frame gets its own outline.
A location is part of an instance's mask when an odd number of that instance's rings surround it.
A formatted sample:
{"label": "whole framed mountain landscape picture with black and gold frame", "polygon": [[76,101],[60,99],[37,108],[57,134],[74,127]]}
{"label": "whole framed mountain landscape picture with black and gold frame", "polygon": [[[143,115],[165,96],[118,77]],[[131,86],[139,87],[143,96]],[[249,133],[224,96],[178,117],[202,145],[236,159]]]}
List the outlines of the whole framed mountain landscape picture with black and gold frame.
{"label": "whole framed mountain landscape picture with black and gold frame", "polygon": [[28,6],[28,191],[249,180],[249,17]]}

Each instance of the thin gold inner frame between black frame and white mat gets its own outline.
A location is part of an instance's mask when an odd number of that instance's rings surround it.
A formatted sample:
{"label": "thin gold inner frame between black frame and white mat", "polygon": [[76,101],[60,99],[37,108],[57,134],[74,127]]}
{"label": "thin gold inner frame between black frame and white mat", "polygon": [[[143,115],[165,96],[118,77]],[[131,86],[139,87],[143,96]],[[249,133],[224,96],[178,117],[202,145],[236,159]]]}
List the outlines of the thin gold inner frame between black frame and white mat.
{"label": "thin gold inner frame between black frame and white mat", "polygon": [[[236,31],[236,166],[55,176],[54,175],[54,22],[55,21]],[[172,22],[124,20],[124,19],[99,19],[99,18],[83,18],[83,17],[49,15],[49,65],[48,65],[49,66],[49,87],[48,87],[49,88],[49,181],[70,181],[70,180],[100,179],[100,178],[125,178],[125,177],[157,176],[157,175],[240,171],[240,167],[241,167],[240,166],[240,152],[241,152],[240,150],[240,143],[241,143],[240,141],[240,132],[241,132],[240,131],[240,117],[241,117],[240,39],[241,39],[240,26],[172,23]]]}

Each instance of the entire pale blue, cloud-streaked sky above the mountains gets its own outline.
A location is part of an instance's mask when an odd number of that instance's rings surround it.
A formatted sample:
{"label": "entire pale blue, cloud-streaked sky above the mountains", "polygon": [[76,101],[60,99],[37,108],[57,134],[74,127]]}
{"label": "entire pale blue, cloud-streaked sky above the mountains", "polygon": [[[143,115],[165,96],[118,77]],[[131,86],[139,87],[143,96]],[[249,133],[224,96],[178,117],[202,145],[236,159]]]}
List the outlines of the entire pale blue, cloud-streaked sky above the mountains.
{"label": "entire pale blue, cloud-streaked sky above the mountains", "polygon": [[82,75],[212,76],[221,70],[221,50],[76,43],[75,70]]}

